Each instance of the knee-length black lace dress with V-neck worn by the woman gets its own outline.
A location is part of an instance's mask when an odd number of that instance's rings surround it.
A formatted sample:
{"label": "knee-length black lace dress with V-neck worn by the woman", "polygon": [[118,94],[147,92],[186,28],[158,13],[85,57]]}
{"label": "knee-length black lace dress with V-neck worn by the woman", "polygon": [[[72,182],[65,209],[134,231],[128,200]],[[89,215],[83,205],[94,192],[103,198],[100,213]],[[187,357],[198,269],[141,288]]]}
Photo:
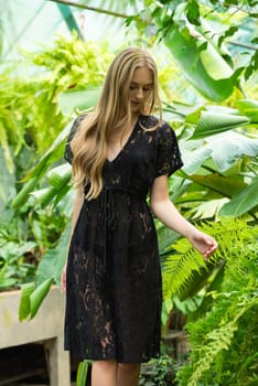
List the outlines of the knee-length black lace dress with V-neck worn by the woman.
{"label": "knee-length black lace dress with V-neck worn by the woman", "polygon": [[[69,140],[79,128],[75,120]],[[154,178],[182,165],[178,141],[163,122],[141,116],[114,161],[105,186],[84,201],[68,253],[65,349],[78,358],[141,363],[159,356],[161,272],[158,239],[146,197]],[[87,190],[87,186],[85,187]]]}

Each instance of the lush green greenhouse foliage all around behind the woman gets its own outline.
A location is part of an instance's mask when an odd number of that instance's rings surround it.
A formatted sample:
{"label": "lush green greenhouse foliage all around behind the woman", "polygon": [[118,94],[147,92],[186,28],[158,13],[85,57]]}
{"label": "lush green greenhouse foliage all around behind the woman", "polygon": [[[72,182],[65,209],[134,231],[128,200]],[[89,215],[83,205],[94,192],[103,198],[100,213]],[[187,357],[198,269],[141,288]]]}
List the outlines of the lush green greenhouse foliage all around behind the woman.
{"label": "lush green greenhouse foliage all around behind the woman", "polygon": [[[108,9],[123,21],[126,43],[84,42],[78,29],[69,37],[61,34],[52,44],[37,45],[34,53],[20,50],[19,68],[15,61],[2,66],[0,288],[24,283],[22,320],[33,318],[51,285],[58,283],[74,193],[71,169],[62,159],[71,121],[95,105],[115,53],[127,45],[144,46],[157,58],[163,115],[176,131],[184,160],[182,171],[170,179],[171,199],[196,226],[212,224],[208,233],[221,246],[225,243],[205,265],[155,221],[164,279],[163,330],[169,329],[171,311],[179,309],[189,320],[193,349],[179,379],[182,385],[200,379],[230,385],[238,374],[239,382],[252,385],[257,358],[251,336],[257,332],[248,320],[257,315],[257,232],[251,230],[257,230],[258,204],[257,1],[98,6],[98,14]],[[214,346],[217,351],[209,355]],[[245,357],[240,369],[236,347]],[[206,367],[200,355],[209,357]]]}

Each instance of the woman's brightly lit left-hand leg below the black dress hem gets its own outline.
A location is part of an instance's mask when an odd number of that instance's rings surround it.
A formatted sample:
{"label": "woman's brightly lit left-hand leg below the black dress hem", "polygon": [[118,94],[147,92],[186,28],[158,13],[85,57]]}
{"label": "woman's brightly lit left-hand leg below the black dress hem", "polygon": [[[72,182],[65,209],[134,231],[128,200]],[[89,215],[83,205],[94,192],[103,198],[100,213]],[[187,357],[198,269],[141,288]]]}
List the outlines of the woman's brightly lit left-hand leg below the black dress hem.
{"label": "woman's brightly lit left-hand leg below the black dress hem", "polygon": [[117,386],[117,362],[94,361],[92,386]]}

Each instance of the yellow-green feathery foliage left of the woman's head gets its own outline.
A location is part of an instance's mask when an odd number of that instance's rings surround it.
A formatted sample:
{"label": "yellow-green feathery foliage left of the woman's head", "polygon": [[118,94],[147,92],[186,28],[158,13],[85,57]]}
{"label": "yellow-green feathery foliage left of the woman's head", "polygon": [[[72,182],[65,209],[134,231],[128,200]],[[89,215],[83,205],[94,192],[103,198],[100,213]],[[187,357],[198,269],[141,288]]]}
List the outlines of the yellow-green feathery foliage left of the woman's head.
{"label": "yellow-green feathery foliage left of the woman's head", "polygon": [[[71,39],[56,36],[52,46],[43,45],[36,53],[22,51],[22,78],[19,73],[14,75],[12,67],[0,75],[0,144],[12,171],[13,154],[31,148],[39,158],[67,122],[68,115],[61,111],[57,103],[61,93],[99,86],[112,57],[107,44],[86,43],[76,34]],[[28,65],[31,72],[34,69],[33,75],[25,71]],[[78,101],[76,107],[79,108]],[[30,168],[35,160],[28,161]]]}

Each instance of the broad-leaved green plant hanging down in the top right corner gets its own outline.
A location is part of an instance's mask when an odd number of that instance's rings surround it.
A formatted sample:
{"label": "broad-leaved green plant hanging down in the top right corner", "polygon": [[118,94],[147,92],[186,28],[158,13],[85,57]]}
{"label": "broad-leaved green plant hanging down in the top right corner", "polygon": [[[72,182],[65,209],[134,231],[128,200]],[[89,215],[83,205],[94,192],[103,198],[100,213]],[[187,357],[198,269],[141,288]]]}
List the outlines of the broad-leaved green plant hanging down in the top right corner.
{"label": "broad-leaved green plant hanging down in the top right corner", "polygon": [[[128,23],[137,23],[142,32],[152,26],[152,35],[165,43],[195,89],[205,98],[218,101],[228,98],[234,87],[239,87],[241,73],[248,79],[257,68],[255,3],[252,0],[221,1],[216,7],[216,1],[205,0],[146,0],[144,11],[128,18]],[[232,43],[232,37],[247,24],[254,26],[250,41]],[[244,47],[243,66],[234,68],[225,43],[229,43],[230,49]]]}

